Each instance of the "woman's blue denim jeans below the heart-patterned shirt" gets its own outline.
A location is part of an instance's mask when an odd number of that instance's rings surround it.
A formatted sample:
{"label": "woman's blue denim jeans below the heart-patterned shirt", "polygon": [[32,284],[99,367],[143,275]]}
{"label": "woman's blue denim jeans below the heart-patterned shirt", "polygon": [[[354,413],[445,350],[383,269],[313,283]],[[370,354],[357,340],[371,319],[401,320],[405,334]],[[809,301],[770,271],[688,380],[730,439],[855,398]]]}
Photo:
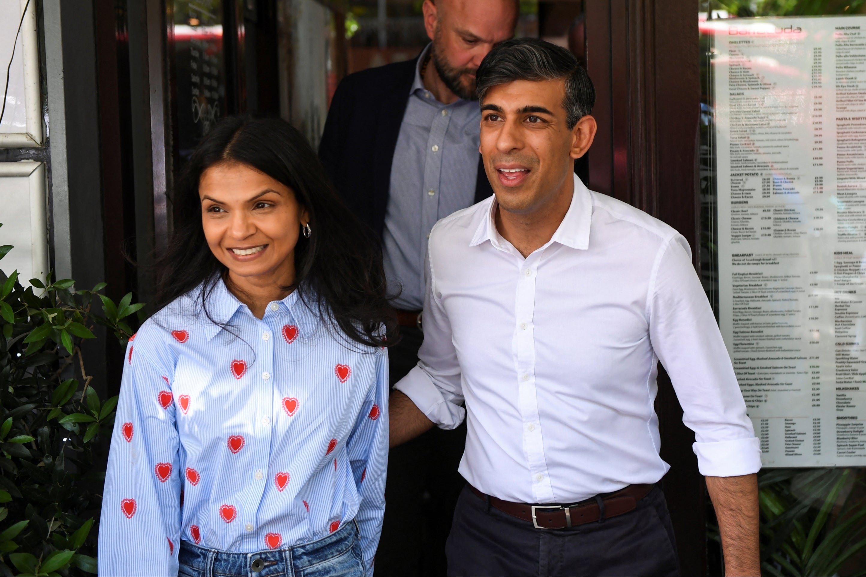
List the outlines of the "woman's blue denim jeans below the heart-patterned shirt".
{"label": "woman's blue denim jeans below the heart-patterned shirt", "polygon": [[255,553],[229,553],[180,541],[178,575],[189,577],[294,577],[363,575],[358,525],[346,523],[332,535],[294,547]]}

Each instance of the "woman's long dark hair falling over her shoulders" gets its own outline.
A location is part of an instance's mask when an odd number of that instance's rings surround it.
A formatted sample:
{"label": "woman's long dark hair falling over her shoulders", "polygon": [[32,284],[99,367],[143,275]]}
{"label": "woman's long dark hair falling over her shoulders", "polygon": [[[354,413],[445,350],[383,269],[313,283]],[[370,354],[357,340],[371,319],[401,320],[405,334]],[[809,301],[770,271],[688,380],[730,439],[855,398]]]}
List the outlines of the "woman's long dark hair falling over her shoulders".
{"label": "woman's long dark hair falling over her shoulders", "polygon": [[196,298],[207,313],[210,291],[228,274],[205,240],[198,197],[202,173],[223,162],[249,165],[280,181],[309,213],[313,234],[298,238],[295,283],[286,289],[298,290],[329,328],[339,327],[351,340],[371,347],[393,344],[393,336],[386,340],[382,331],[384,325],[387,334],[396,334],[397,322],[378,238],[337,196],[307,140],[279,119],[226,118],[192,153],[174,189],[175,229],[157,263],[157,307],[202,285]]}

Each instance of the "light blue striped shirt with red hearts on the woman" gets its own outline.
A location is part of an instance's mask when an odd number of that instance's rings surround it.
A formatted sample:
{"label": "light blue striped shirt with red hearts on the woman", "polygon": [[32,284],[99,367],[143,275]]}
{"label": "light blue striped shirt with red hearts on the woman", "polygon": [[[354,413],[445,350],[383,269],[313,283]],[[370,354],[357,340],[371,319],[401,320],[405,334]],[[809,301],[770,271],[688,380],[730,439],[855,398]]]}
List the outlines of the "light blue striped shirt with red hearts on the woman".
{"label": "light blue striped shirt with red hearts on the woman", "polygon": [[[199,296],[198,301],[195,296]],[[372,574],[388,459],[388,355],[297,292],[262,320],[216,283],[126,348],[108,458],[101,575],[177,575],[181,539],[254,553],[358,522]]]}

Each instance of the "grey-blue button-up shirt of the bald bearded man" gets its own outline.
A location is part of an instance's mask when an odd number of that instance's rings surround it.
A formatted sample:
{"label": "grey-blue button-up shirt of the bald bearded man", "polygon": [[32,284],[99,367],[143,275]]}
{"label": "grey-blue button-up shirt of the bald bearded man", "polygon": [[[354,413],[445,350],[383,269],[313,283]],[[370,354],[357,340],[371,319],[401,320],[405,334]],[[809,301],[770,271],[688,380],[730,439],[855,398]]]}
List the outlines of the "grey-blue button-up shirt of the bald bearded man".
{"label": "grey-blue button-up shirt of the bald bearded man", "polygon": [[[421,310],[424,258],[440,218],[473,204],[478,175],[481,109],[474,100],[443,104],[421,81],[423,49],[391,164],[382,237],[388,289],[402,293],[394,306]],[[428,66],[433,66],[431,61]]]}

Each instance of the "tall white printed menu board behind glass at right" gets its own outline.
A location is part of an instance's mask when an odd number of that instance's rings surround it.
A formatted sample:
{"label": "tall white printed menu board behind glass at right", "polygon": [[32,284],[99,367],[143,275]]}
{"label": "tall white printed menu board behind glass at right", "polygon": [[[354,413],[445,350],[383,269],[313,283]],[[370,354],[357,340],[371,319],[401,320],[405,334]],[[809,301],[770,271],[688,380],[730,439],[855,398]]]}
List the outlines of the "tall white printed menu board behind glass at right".
{"label": "tall white printed menu board behind glass at right", "polygon": [[866,17],[714,23],[720,325],[771,467],[866,465]]}

